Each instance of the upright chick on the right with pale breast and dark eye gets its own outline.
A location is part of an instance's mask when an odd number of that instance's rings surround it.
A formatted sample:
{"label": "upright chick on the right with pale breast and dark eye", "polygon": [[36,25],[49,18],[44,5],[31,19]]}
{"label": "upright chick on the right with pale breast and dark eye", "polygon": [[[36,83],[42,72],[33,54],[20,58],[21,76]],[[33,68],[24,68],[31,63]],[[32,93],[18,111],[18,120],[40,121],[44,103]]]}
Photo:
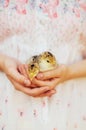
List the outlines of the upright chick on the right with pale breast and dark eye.
{"label": "upright chick on the right with pale breast and dark eye", "polygon": [[57,66],[55,56],[47,51],[39,55],[38,64],[41,72],[54,69]]}

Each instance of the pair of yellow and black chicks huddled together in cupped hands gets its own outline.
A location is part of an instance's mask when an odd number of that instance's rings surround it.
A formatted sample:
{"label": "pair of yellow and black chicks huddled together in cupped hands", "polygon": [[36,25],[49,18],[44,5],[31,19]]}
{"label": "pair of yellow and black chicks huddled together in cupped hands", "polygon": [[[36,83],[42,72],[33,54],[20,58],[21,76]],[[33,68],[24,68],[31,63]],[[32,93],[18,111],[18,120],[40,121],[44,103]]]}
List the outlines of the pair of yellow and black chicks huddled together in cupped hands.
{"label": "pair of yellow and black chicks huddled together in cupped hands", "polygon": [[51,52],[43,52],[40,55],[32,56],[28,62],[27,74],[32,80],[39,72],[54,69],[57,66],[56,58]]}

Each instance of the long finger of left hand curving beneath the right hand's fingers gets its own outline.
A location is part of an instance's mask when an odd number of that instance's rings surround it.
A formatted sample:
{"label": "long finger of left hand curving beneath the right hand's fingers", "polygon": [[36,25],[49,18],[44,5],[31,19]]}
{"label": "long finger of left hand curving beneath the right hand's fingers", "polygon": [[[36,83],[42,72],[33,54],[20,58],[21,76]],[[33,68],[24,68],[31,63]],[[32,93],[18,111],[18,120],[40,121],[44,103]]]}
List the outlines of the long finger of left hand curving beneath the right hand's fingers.
{"label": "long finger of left hand curving beneath the right hand's fingers", "polygon": [[42,88],[26,88],[23,85],[15,82],[13,79],[11,79],[12,84],[15,86],[15,88],[18,91],[21,91],[29,96],[33,96],[33,97],[38,97],[39,95],[41,95],[42,93],[45,93],[46,91],[49,91],[49,87],[42,87]]}

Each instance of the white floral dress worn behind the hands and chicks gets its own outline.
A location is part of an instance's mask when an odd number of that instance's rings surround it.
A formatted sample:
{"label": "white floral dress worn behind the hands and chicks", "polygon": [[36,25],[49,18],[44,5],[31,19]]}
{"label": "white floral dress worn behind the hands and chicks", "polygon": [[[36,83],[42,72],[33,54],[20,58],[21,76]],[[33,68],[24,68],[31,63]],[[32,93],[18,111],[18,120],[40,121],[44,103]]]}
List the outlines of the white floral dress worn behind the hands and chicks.
{"label": "white floral dress worn behind the hands and chicks", "polygon": [[[23,63],[43,51],[59,64],[82,60],[79,36],[85,28],[86,0],[0,0],[0,52]],[[56,90],[52,97],[33,98],[0,72],[0,130],[85,130],[86,78]]]}

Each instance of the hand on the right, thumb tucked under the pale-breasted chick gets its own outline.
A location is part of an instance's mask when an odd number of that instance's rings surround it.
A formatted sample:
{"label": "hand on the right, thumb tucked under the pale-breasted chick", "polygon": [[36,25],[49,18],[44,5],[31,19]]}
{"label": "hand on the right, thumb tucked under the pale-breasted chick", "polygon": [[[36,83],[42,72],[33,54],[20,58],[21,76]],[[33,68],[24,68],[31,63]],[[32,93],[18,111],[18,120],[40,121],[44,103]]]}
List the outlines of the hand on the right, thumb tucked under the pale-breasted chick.
{"label": "hand on the right, thumb tucked under the pale-breasted chick", "polygon": [[66,65],[60,65],[57,68],[39,73],[37,78],[33,80],[33,83],[38,86],[48,86],[50,90],[55,90],[55,87],[68,80],[68,67]]}

